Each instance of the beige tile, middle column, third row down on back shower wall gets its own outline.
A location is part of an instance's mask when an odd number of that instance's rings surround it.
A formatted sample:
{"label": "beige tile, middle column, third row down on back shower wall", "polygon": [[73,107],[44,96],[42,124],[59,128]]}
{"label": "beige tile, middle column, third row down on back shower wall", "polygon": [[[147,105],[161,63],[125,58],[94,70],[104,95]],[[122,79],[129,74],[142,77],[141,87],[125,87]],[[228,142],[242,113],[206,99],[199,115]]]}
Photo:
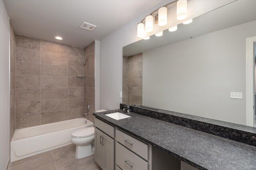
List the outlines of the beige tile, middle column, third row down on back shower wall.
{"label": "beige tile, middle column, third row down on back shower wall", "polygon": [[41,76],[68,76],[68,66],[41,64]]}

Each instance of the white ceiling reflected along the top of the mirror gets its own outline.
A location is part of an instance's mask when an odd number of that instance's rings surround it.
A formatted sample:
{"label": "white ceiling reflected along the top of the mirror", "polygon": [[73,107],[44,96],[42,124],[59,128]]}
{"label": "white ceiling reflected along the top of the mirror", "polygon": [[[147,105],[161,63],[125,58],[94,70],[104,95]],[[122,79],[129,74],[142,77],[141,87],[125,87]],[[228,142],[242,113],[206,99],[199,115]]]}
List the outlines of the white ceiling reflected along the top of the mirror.
{"label": "white ceiling reflected along the top of the mirror", "polygon": [[[138,53],[162,47],[164,45],[176,43],[197,37],[242,23],[256,20],[256,0],[238,0],[217,8],[211,12],[203,14],[193,19],[193,22],[178,25],[178,30],[169,32],[165,30],[163,36],[150,36],[148,40],[140,40],[123,48],[124,56],[131,56]],[[243,30],[241,30],[243,31]],[[256,50],[255,50],[256,54]]]}

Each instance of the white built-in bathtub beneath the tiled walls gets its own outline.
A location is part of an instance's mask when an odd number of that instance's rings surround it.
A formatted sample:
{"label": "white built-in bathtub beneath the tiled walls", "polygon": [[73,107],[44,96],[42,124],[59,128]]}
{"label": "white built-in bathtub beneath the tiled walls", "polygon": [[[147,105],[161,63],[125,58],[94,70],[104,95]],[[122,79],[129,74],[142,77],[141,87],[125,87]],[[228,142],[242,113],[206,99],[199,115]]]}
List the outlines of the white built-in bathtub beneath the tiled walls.
{"label": "white built-in bathtub beneath the tiled walls", "polygon": [[11,141],[11,162],[69,145],[71,133],[85,127],[94,127],[94,124],[78,118],[17,129]]}

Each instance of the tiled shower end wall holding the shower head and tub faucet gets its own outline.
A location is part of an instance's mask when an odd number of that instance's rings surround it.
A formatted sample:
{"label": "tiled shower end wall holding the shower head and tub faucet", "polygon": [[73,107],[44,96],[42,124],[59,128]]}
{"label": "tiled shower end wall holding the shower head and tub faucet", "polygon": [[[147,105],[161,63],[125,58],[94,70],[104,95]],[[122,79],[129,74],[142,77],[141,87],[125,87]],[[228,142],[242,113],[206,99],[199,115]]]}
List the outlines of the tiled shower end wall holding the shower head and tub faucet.
{"label": "tiled shower end wall holding the shower head and tub faucet", "polygon": [[84,48],[84,61],[84,107],[86,104],[90,106],[87,118],[94,122],[92,113],[95,112],[95,41]]}

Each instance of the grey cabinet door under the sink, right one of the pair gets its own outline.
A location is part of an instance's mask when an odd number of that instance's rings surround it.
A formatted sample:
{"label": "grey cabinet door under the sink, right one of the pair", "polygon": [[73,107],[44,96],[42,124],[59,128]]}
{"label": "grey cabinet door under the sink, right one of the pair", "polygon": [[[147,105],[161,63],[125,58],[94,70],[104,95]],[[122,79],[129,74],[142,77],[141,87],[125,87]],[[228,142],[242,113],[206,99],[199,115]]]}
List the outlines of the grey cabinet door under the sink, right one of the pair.
{"label": "grey cabinet door under the sink, right one of the pair", "polygon": [[104,168],[103,170],[114,170],[114,139],[103,133],[103,152],[104,152]]}

